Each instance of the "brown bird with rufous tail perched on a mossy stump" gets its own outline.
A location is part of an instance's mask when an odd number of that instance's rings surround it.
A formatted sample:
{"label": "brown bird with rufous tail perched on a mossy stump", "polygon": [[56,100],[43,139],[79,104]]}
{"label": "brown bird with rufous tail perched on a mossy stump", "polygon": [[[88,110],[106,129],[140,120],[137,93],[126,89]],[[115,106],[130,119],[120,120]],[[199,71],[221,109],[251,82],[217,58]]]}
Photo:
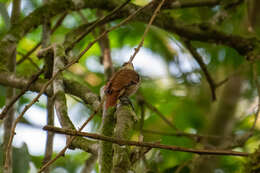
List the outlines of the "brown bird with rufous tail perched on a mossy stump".
{"label": "brown bird with rufous tail perched on a mossy stump", "polygon": [[113,74],[105,86],[106,109],[115,106],[117,100],[122,97],[129,97],[139,88],[140,77],[134,70],[131,62],[123,66]]}

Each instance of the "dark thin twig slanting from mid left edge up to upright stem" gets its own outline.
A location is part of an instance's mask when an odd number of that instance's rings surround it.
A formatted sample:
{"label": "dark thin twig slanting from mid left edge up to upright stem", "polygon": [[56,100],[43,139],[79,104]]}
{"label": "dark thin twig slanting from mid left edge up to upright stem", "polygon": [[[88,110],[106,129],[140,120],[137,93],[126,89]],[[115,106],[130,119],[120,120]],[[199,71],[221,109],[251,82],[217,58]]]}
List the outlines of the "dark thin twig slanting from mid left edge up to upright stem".
{"label": "dark thin twig slanting from mid left edge up to upright stem", "polygon": [[22,89],[22,91],[16,95],[9,103],[5,106],[5,108],[0,113],[0,119],[4,119],[9,111],[9,109],[15,104],[15,102],[22,96],[26,91],[29,90],[31,85],[39,78],[39,76],[43,73],[43,69],[38,71],[36,74],[32,75],[29,79],[28,84]]}

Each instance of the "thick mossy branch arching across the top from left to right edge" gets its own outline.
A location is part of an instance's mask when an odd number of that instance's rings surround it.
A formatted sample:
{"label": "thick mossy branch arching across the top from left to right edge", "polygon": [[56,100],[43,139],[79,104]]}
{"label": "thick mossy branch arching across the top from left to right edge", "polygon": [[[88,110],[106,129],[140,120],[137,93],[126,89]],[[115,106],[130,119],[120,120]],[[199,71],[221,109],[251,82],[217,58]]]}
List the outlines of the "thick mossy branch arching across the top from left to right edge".
{"label": "thick mossy branch arching across the top from left to right edge", "polygon": [[[74,3],[72,0],[55,0],[48,5],[36,9],[29,16],[24,18],[24,20],[19,23],[19,27],[12,27],[0,42],[0,63],[3,63],[6,58],[8,58],[8,49],[6,49],[8,45],[12,42],[19,41],[32,28],[42,24],[43,15],[51,18],[67,10],[79,10],[87,7],[109,11],[113,10],[117,6],[117,3],[115,2],[106,3],[106,1],[103,0],[96,0],[95,2],[79,0],[77,2],[78,3]],[[139,7],[134,4],[128,4],[120,11],[119,17],[130,16],[132,12],[138,8]],[[135,20],[148,23],[150,16],[152,16],[153,10],[151,10],[151,8],[153,7],[143,10],[140,15],[135,17]],[[157,16],[153,24],[190,40],[217,43],[233,47],[241,55],[246,55],[252,52],[254,48],[260,47],[259,40],[256,38],[248,39],[241,36],[226,34],[215,29],[215,26],[210,24],[187,25],[182,21],[176,20],[173,17],[162,13]]]}

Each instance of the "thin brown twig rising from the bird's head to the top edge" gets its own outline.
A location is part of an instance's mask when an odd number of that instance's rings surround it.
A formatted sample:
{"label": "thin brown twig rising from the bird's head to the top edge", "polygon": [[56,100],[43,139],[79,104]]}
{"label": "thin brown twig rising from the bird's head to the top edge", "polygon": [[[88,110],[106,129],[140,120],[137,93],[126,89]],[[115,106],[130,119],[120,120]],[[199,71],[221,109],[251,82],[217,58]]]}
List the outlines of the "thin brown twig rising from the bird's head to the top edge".
{"label": "thin brown twig rising from the bird's head to the top edge", "polygon": [[148,33],[148,31],[149,31],[149,29],[150,29],[150,27],[151,27],[151,25],[152,25],[152,23],[153,23],[153,21],[154,21],[156,15],[159,13],[159,11],[160,11],[160,9],[161,9],[161,7],[162,7],[164,1],[165,1],[165,0],[162,0],[162,1],[160,2],[160,4],[157,6],[157,8],[155,9],[155,11],[154,11],[154,13],[153,13],[153,15],[152,15],[152,17],[151,17],[151,19],[150,19],[150,21],[149,21],[147,27],[145,28],[144,34],[143,34],[143,36],[142,36],[142,39],[141,39],[141,41],[140,41],[138,47],[135,48],[135,52],[134,52],[134,54],[130,57],[130,59],[129,59],[128,62],[133,62],[133,60],[134,60],[136,54],[139,52],[140,48],[143,46],[144,38],[145,38],[145,36],[147,35],[147,33]]}

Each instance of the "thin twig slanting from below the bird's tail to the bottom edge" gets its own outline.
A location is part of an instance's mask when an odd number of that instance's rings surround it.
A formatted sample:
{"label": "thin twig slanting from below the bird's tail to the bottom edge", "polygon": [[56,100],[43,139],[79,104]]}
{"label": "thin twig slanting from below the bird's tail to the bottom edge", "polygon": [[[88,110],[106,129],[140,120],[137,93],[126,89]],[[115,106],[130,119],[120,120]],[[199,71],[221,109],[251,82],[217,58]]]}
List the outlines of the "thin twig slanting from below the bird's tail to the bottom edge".
{"label": "thin twig slanting from below the bird's tail to the bottom edge", "polygon": [[[94,113],[82,124],[82,126],[79,128],[79,132],[84,129],[84,127],[92,120],[92,118],[98,113],[99,110],[94,111]],[[72,136],[68,139],[66,146],[57,154],[55,158],[48,161],[46,164],[44,164],[41,169],[38,171],[38,173],[41,173],[44,171],[47,167],[49,167],[52,163],[54,163],[58,158],[61,156],[64,156],[66,150],[70,147],[71,143],[77,136]]]}

